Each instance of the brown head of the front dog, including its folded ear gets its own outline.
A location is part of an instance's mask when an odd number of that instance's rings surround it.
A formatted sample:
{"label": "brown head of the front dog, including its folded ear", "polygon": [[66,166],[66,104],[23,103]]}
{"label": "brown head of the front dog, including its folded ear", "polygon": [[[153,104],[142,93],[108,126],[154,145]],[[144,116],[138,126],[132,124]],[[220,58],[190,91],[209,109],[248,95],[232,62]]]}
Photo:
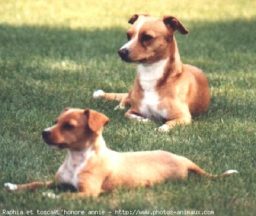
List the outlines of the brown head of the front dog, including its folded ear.
{"label": "brown head of the front dog, including its folded ear", "polygon": [[65,109],[55,125],[42,131],[44,142],[49,147],[82,149],[101,134],[109,118],[94,110]]}

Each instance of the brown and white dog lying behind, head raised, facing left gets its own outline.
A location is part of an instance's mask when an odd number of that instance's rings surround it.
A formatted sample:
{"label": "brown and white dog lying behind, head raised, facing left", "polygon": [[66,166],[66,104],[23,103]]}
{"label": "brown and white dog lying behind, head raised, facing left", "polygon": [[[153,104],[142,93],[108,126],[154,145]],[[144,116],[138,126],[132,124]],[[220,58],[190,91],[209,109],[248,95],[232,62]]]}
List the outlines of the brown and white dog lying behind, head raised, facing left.
{"label": "brown and white dog lying behind, head raised, facing left", "polygon": [[127,31],[128,42],[118,54],[127,63],[137,63],[137,77],[129,94],[94,92],[95,98],[121,100],[119,108],[131,105],[126,117],[147,121],[164,120],[160,130],[176,124],[190,124],[191,115],[203,113],[210,94],[204,73],[180,60],[175,31],[188,30],[173,16],[155,18],[133,15]]}

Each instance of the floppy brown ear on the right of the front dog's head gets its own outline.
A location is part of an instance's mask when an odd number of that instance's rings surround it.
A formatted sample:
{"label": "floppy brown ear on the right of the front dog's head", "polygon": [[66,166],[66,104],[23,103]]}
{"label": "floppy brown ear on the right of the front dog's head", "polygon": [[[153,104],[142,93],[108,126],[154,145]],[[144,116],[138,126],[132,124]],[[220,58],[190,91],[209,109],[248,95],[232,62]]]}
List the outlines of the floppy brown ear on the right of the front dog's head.
{"label": "floppy brown ear on the right of the front dog's head", "polygon": [[88,119],[88,126],[90,130],[93,132],[101,130],[102,127],[109,123],[109,118],[97,111],[85,109],[84,114]]}

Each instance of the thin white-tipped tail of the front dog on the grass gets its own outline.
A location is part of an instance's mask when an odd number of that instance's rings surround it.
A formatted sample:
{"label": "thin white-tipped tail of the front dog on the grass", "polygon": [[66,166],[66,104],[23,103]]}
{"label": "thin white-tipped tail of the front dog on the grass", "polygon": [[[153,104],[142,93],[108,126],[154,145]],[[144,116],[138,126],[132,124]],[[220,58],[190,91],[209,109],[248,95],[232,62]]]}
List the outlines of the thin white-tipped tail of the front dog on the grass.
{"label": "thin white-tipped tail of the front dog on the grass", "polygon": [[218,175],[214,175],[212,173],[207,173],[205,172],[203,169],[201,169],[198,165],[194,164],[191,161],[191,164],[189,164],[188,166],[188,170],[196,173],[199,176],[204,176],[204,177],[208,177],[208,178],[221,178],[221,177],[226,177],[226,176],[230,176],[233,173],[238,173],[238,171],[236,169],[229,169],[228,171],[218,174]]}

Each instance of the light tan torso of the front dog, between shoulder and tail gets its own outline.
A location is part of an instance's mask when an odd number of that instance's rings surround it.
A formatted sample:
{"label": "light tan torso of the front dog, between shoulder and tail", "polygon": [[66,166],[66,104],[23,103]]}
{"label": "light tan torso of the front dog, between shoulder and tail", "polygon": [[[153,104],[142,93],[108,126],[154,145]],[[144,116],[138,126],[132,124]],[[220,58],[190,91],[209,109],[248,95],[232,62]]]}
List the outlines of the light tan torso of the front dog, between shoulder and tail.
{"label": "light tan torso of the front dog, between shoulder and tail", "polygon": [[188,175],[189,160],[170,152],[158,150],[113,154],[112,164],[115,165],[111,175],[102,184],[102,190],[105,191],[118,185],[152,186],[168,178],[185,180]]}

